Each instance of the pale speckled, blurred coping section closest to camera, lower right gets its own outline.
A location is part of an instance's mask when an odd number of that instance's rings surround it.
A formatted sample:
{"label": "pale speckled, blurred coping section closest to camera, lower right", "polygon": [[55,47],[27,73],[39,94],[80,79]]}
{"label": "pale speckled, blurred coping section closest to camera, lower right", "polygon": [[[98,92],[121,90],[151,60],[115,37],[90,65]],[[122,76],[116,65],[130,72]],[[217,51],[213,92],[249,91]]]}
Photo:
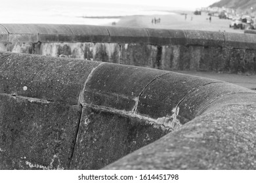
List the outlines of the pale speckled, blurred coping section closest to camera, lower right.
{"label": "pale speckled, blurred coping section closest to camera, lower right", "polygon": [[256,169],[255,122],[255,105],[219,107],[104,169]]}

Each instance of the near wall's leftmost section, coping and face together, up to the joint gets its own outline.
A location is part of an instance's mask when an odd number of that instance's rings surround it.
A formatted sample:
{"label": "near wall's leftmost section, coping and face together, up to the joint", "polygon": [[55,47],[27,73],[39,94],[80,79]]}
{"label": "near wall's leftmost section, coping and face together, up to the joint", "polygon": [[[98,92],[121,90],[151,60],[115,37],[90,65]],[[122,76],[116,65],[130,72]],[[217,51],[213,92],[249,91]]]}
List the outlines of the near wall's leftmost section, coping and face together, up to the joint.
{"label": "near wall's leftmost section, coping and face together, up to the joint", "polygon": [[69,168],[81,88],[99,64],[1,53],[0,169]]}

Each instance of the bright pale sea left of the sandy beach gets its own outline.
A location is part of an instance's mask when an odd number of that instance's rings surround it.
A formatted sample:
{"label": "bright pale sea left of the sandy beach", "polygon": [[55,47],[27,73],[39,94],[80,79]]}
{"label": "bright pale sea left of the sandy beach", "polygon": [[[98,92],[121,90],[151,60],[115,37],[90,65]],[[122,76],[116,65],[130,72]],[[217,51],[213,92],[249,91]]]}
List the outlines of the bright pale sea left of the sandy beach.
{"label": "bright pale sea left of the sandy beach", "polygon": [[60,0],[9,0],[1,5],[0,24],[106,25],[118,22],[121,16],[154,14],[175,13],[167,8],[146,5]]}

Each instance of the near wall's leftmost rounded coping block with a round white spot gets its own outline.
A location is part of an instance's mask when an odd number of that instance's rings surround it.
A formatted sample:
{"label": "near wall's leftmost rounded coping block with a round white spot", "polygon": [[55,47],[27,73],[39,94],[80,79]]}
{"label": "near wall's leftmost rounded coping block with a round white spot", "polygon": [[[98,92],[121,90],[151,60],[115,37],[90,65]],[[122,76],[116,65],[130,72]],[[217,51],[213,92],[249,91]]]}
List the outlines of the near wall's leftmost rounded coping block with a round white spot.
{"label": "near wall's leftmost rounded coping block with a round white spot", "polygon": [[[0,93],[75,105],[91,70],[99,63],[1,53]],[[61,61],[61,65],[60,65]]]}

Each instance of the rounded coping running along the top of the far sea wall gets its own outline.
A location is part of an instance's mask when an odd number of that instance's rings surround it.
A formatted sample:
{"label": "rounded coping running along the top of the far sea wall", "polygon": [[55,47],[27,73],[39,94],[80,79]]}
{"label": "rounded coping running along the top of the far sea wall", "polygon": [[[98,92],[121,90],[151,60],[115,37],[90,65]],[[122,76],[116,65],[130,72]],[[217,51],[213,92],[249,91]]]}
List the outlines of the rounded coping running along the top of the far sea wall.
{"label": "rounded coping running along the top of the far sea wall", "polygon": [[255,49],[256,35],[96,25],[1,24],[1,42],[114,42]]}

